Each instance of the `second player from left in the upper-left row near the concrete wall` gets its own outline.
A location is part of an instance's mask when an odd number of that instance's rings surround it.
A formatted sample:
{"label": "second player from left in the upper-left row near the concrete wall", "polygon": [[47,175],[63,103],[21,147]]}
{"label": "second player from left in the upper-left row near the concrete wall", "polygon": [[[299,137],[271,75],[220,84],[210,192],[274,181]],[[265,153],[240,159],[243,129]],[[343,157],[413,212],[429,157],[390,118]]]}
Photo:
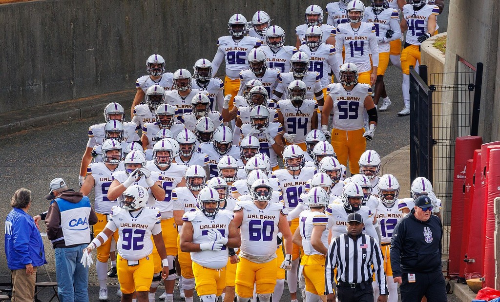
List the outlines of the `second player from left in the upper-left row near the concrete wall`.
{"label": "second player from left in the upper-left row near the concrete wall", "polygon": [[182,115],[192,111],[191,100],[197,93],[208,95],[207,91],[191,89],[191,73],[187,69],[177,69],[173,73],[172,90],[165,92],[165,103],[177,108],[177,121],[184,123]]}

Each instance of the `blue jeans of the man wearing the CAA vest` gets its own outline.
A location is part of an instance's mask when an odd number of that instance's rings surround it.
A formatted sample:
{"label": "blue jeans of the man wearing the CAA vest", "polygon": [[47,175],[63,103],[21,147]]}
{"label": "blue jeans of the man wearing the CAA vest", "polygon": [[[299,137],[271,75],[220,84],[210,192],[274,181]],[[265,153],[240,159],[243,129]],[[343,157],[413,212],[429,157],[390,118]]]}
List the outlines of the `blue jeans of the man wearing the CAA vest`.
{"label": "blue jeans of the man wearing the CAA vest", "polygon": [[81,263],[87,244],[55,249],[55,275],[60,302],[88,302],[88,267]]}

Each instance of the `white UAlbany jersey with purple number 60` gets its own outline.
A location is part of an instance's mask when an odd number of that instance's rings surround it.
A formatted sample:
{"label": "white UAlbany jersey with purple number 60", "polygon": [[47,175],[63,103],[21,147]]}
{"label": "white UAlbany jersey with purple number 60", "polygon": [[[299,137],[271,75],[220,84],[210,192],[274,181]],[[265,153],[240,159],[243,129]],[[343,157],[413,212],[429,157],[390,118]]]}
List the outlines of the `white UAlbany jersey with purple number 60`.
{"label": "white UAlbany jersey with purple number 60", "polygon": [[242,211],[241,246],[239,257],[256,263],[276,258],[278,223],[280,215],[287,215],[282,204],[267,203],[260,210],[252,201],[239,201],[234,212]]}

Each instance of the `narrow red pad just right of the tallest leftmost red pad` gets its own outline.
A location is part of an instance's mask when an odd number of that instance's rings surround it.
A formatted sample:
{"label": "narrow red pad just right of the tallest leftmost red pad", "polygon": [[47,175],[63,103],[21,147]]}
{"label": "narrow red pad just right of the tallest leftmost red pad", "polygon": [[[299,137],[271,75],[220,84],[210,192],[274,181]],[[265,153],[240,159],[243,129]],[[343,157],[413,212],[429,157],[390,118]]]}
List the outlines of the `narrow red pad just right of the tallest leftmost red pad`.
{"label": "narrow red pad just right of the tallest leftmost red pad", "polygon": [[[465,254],[467,254],[468,248],[468,238],[470,234],[470,221],[472,217],[470,217],[470,203],[472,200],[472,195],[474,193],[474,186],[472,185],[472,177],[474,175],[474,165],[473,160],[467,160],[466,165],[466,173],[465,173],[465,182],[463,183],[463,231],[461,234],[462,245],[460,246],[460,269],[458,271],[458,277],[465,277],[465,262],[463,259],[465,258]],[[453,230],[452,230],[453,231]],[[451,251],[450,251],[451,253]]]}

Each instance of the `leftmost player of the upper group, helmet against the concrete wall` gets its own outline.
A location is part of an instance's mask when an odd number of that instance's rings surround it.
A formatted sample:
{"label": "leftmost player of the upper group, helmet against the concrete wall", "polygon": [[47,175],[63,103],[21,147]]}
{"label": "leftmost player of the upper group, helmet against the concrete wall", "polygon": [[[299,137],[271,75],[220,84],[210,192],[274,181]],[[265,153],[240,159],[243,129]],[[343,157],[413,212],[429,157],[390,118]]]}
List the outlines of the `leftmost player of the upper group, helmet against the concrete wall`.
{"label": "leftmost player of the upper group, helmet against the concrete wall", "polygon": [[137,79],[135,82],[135,88],[137,92],[132,102],[132,110],[130,116],[133,119],[135,115],[133,113],[133,108],[137,106],[140,102],[145,101],[145,93],[147,88],[160,85],[165,90],[170,90],[172,88],[172,77],[171,72],[165,72],[165,60],[159,54],[151,54],[146,60],[146,71],[148,75],[143,75]]}

